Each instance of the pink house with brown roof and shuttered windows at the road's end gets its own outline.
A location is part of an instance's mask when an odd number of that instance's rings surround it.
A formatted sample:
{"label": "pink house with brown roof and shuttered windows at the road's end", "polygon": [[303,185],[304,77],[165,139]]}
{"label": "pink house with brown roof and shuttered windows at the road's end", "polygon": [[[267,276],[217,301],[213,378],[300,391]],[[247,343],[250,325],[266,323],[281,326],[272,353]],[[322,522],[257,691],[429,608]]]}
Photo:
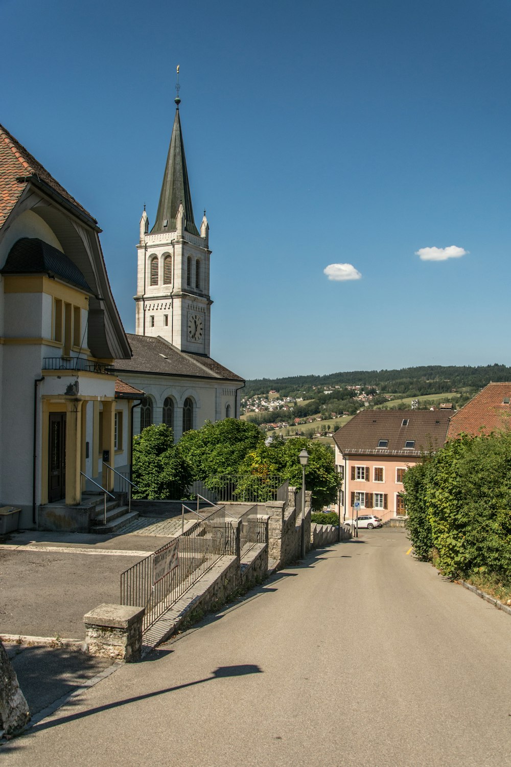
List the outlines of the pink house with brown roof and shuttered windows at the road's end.
{"label": "pink house with brown roof and shuttered windows at the road's end", "polygon": [[449,411],[362,410],[334,436],[336,466],[343,479],[339,515],[372,509],[383,519],[404,514],[403,476],[427,450],[441,447]]}

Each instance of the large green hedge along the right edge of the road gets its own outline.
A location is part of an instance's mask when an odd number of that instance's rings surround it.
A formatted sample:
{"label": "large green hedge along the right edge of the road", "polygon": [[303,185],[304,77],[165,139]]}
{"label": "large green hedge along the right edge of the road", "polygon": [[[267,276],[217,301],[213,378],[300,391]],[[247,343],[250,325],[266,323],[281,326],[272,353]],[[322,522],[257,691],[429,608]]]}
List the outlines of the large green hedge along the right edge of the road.
{"label": "large green hedge along the right edge of the road", "polygon": [[404,479],[418,558],[450,578],[511,576],[511,433],[453,439]]}

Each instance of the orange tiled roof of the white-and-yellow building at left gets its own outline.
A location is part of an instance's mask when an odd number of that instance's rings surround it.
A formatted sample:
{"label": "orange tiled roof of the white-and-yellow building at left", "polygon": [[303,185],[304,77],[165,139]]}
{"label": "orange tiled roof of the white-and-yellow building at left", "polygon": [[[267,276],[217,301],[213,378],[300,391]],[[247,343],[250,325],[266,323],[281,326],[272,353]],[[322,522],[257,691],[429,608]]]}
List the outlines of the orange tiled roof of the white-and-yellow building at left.
{"label": "orange tiled roof of the white-and-yellow building at left", "polygon": [[[9,213],[21,197],[30,176],[35,176],[48,186],[51,186],[61,197],[71,202],[77,209],[92,219],[90,213],[77,202],[48,173],[38,160],[22,146],[8,130],[0,125],[0,228],[4,225]],[[18,181],[17,179],[25,179]],[[96,219],[93,219],[95,221]]]}

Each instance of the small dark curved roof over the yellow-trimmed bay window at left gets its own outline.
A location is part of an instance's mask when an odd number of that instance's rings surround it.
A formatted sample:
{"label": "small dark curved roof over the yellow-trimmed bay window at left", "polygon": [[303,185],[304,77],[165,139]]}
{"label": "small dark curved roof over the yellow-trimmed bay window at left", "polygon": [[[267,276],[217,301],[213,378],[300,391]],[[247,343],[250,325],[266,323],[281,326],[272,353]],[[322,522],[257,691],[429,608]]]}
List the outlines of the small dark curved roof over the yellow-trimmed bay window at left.
{"label": "small dark curved roof over the yellow-trimmed bay window at left", "polygon": [[89,285],[70,258],[37,237],[22,237],[12,246],[2,269],[4,275],[51,275],[91,293]]}

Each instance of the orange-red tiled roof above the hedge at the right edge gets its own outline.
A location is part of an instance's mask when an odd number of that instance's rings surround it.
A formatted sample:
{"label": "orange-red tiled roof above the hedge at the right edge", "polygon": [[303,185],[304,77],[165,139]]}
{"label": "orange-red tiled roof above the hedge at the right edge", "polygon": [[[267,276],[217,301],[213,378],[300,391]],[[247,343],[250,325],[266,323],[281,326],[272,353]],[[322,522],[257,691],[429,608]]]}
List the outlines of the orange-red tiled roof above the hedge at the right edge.
{"label": "orange-red tiled roof above the hedge at the right edge", "polygon": [[[508,402],[504,402],[507,399]],[[511,382],[488,384],[451,416],[447,439],[458,435],[490,434],[511,424]]]}

